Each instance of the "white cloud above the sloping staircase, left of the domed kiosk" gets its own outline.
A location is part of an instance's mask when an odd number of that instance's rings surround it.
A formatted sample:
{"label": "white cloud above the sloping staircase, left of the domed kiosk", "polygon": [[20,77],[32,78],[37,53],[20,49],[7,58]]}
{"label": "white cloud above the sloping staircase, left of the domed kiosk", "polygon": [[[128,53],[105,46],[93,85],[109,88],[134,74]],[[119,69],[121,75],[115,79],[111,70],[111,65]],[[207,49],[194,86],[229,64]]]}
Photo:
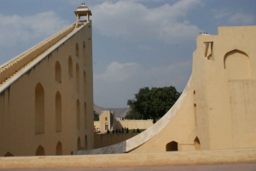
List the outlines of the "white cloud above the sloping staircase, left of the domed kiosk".
{"label": "white cloud above the sloping staircase, left of the domed kiosk", "polygon": [[14,46],[34,38],[46,38],[67,26],[55,12],[48,11],[30,16],[0,14],[0,45]]}

